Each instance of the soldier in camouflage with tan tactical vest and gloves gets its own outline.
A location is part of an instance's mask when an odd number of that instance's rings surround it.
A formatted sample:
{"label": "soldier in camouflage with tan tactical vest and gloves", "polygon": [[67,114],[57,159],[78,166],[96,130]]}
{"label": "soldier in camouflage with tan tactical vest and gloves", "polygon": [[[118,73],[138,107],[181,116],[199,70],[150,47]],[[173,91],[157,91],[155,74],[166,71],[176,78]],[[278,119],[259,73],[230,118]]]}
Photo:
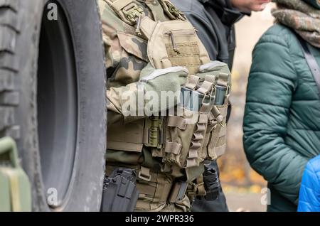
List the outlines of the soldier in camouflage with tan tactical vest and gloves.
{"label": "soldier in camouflage with tan tactical vest and gloves", "polygon": [[[189,211],[196,196],[210,197],[215,187],[214,174],[203,183],[203,161],[225,150],[228,65],[210,61],[196,29],[169,0],[99,4],[107,58],[107,175],[114,168],[137,173],[137,211]],[[157,97],[151,103],[150,93]]]}

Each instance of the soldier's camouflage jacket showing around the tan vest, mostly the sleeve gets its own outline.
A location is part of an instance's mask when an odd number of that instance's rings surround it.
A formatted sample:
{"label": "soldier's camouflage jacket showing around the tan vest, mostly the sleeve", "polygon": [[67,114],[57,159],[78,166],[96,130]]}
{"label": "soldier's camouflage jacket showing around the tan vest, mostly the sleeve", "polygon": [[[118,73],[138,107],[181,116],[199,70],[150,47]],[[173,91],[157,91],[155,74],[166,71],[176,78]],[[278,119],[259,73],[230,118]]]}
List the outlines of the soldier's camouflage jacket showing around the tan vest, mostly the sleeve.
{"label": "soldier's camouflage jacket showing around the tan vest, mostly the sleeve", "polygon": [[[144,15],[158,21],[170,20],[159,1],[137,0]],[[137,35],[135,26],[122,21],[104,1],[99,0],[102,19],[102,38],[107,67],[108,124],[122,119],[120,97],[129,89],[136,89],[140,72],[149,62],[148,42]]]}

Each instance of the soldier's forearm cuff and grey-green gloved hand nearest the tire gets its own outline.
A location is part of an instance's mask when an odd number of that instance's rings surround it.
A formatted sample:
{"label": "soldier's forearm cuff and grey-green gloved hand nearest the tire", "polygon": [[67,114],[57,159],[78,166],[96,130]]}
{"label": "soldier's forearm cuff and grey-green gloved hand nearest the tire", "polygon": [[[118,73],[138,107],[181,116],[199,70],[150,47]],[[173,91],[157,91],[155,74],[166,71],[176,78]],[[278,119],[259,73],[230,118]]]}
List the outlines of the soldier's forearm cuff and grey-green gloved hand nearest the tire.
{"label": "soldier's forearm cuff and grey-green gloved hand nearest the tire", "polygon": [[[180,100],[178,91],[181,90],[181,86],[186,84],[187,80],[187,68],[154,69],[151,64],[148,64],[142,70],[139,82],[107,90],[107,108],[118,115],[122,114],[124,122],[148,117],[178,104]],[[161,101],[161,91],[164,91],[163,98],[176,94],[172,97],[174,101],[164,101],[164,99]],[[149,109],[149,111],[146,112],[145,109]],[[118,119],[109,119],[109,122],[113,123],[114,121],[118,121]]]}

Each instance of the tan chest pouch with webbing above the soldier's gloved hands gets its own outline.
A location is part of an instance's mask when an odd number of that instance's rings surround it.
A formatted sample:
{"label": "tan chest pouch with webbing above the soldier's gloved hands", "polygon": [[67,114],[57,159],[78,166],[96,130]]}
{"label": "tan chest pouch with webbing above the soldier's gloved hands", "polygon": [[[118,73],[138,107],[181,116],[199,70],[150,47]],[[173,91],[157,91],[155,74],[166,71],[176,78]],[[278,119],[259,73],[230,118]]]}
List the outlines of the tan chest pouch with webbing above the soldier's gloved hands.
{"label": "tan chest pouch with webbing above the soldier's gloved hands", "polygon": [[148,58],[156,69],[183,66],[189,74],[208,63],[208,53],[188,21],[155,22],[144,16],[140,22],[142,35],[148,39]]}

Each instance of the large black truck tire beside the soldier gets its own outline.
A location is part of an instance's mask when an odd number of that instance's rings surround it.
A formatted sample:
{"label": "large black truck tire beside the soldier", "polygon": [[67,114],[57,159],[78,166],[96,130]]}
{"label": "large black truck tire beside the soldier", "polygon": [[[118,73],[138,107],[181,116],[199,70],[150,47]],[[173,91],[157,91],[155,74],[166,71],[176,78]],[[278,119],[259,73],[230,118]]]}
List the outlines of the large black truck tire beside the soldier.
{"label": "large black truck tire beside the soldier", "polygon": [[0,0],[0,138],[17,142],[34,211],[99,211],[106,86],[95,0]]}

